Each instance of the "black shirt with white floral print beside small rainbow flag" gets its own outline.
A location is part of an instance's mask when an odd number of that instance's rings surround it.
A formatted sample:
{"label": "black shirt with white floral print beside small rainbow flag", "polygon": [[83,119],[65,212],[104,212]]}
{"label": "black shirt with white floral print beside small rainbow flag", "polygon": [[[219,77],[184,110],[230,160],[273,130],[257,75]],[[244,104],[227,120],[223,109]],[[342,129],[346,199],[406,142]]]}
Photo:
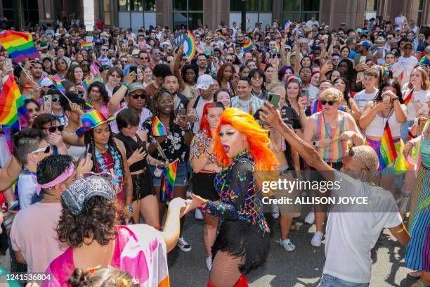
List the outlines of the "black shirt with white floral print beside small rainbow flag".
{"label": "black shirt with white floral print beside small rainbow flag", "polygon": [[[148,134],[148,144],[157,138],[157,136],[152,135],[152,117],[148,117],[142,124],[142,130]],[[169,162],[174,162],[179,159],[180,162],[187,160],[186,158],[186,148],[185,145],[185,131],[176,124],[170,125],[168,135],[166,139],[159,144],[162,150],[167,156]],[[151,154],[152,158],[157,160],[163,160],[158,151],[155,150]]]}

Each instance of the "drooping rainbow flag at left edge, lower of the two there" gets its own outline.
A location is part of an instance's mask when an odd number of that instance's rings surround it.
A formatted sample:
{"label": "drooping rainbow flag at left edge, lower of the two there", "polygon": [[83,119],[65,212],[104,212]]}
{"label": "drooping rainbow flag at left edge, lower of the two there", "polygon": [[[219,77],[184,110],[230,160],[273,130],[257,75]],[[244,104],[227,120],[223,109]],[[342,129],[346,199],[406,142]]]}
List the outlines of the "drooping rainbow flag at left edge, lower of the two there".
{"label": "drooping rainbow flag at left edge, lower of the two there", "polygon": [[13,129],[20,129],[19,118],[28,120],[29,116],[25,107],[18,84],[15,82],[13,74],[10,73],[8,79],[1,89],[0,95],[0,125],[7,125]]}

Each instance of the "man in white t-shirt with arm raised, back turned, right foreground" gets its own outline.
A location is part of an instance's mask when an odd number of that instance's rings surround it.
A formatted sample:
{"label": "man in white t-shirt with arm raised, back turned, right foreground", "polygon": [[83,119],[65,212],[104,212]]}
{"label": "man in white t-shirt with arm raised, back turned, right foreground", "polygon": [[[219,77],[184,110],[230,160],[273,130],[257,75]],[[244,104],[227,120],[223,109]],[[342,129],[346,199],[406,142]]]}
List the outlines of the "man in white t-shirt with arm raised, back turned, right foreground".
{"label": "man in white t-shirt with arm raised, back turned, right foreground", "polygon": [[[335,200],[335,203],[327,220],[326,260],[319,287],[369,286],[372,270],[370,251],[382,229],[388,228],[403,245],[410,240],[392,194],[371,184],[379,165],[377,154],[370,146],[354,146],[344,155],[343,167],[338,172],[320,158],[313,146],[282,122],[270,103],[268,106],[262,107],[267,113],[260,113],[262,119],[280,132],[308,165],[325,177],[326,186],[333,186],[330,200]],[[341,137],[340,140],[345,139]],[[339,204],[340,198],[352,198],[356,202]]]}

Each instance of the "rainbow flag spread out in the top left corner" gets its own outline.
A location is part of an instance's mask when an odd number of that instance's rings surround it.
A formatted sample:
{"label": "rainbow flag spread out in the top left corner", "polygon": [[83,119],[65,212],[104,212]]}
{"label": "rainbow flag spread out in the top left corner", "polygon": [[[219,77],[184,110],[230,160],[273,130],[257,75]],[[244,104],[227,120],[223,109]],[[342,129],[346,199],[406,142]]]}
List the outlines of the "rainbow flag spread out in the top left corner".
{"label": "rainbow flag spread out in the top left corner", "polygon": [[39,51],[34,46],[32,34],[7,30],[0,33],[0,44],[15,63],[20,63],[25,58],[40,58]]}

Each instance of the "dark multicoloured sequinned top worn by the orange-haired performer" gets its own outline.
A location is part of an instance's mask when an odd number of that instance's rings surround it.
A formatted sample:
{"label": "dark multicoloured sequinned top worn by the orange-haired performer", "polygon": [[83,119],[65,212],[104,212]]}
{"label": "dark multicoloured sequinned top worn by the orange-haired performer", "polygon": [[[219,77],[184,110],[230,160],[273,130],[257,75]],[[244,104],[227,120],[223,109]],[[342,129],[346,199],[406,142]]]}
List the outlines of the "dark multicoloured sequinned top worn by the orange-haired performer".
{"label": "dark multicoloured sequinned top worn by the orange-haired performer", "polygon": [[254,165],[248,149],[236,155],[228,167],[216,174],[219,203],[207,200],[201,206],[202,211],[223,220],[245,220],[263,232],[270,232],[263,215],[261,191],[254,179]]}

